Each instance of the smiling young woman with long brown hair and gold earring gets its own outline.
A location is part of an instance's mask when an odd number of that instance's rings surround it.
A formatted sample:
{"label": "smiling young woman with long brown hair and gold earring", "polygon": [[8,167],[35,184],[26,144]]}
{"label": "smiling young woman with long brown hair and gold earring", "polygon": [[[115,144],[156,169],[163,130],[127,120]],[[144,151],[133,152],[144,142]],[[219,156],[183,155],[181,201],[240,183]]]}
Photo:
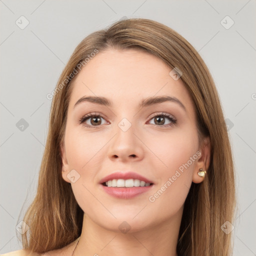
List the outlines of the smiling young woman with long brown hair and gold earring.
{"label": "smiling young woman with long brown hair and gold earring", "polygon": [[142,18],[93,32],[47,97],[17,255],[231,254],[227,129],[209,70],[181,35]]}

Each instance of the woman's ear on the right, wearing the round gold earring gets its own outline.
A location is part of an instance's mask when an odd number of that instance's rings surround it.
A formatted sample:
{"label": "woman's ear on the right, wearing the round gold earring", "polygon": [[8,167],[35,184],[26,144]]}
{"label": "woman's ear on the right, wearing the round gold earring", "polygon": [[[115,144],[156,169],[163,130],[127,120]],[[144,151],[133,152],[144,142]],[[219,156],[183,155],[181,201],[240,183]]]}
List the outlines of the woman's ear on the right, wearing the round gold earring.
{"label": "woman's ear on the right, wearing the round gold earring", "polygon": [[209,137],[203,138],[203,141],[200,145],[199,151],[201,152],[201,155],[199,156],[195,168],[193,170],[193,177],[192,181],[194,183],[200,183],[203,181],[204,177],[200,177],[197,172],[199,171],[200,168],[202,170],[206,170],[206,175],[207,175],[207,170],[210,164],[210,139]]}

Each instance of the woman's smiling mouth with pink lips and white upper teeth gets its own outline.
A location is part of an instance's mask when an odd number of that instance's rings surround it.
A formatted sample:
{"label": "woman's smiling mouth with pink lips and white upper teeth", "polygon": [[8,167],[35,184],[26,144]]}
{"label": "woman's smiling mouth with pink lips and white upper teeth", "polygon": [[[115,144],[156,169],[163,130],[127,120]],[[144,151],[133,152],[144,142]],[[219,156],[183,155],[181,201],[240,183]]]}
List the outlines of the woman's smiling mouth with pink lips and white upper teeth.
{"label": "woman's smiling mouth with pink lips and white upper teeth", "polygon": [[153,182],[136,172],[114,172],[99,181],[108,194],[128,199],[151,189]]}

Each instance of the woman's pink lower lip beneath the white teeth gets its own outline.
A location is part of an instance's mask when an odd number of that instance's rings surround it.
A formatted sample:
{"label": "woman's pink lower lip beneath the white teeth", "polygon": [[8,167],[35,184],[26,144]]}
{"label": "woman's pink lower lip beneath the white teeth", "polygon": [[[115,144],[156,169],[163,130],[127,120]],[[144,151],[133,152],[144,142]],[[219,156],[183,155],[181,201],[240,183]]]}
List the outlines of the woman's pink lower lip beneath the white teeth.
{"label": "woman's pink lower lip beneath the white teeth", "polygon": [[153,185],[150,186],[132,186],[132,187],[111,187],[104,186],[100,184],[104,191],[108,194],[122,199],[130,199],[141,193],[144,193],[152,188]]}

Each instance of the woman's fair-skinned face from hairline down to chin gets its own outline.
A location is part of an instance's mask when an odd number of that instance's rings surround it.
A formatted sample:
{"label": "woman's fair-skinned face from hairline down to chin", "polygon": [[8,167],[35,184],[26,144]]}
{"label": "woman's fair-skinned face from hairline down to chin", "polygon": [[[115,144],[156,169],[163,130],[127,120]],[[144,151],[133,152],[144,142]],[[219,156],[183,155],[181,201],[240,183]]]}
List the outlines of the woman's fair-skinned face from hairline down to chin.
{"label": "woman's fair-skinned face from hairline down to chin", "polygon": [[[82,210],[106,229],[118,231],[122,221],[130,231],[168,221],[182,214],[191,182],[202,181],[196,174],[203,166],[195,109],[171,70],[150,53],[108,49],[97,53],[73,83],[62,177]],[[109,104],[79,100],[87,96],[104,97]],[[162,96],[175,99],[146,101]],[[152,184],[108,188],[100,182],[111,173],[130,171]]]}

